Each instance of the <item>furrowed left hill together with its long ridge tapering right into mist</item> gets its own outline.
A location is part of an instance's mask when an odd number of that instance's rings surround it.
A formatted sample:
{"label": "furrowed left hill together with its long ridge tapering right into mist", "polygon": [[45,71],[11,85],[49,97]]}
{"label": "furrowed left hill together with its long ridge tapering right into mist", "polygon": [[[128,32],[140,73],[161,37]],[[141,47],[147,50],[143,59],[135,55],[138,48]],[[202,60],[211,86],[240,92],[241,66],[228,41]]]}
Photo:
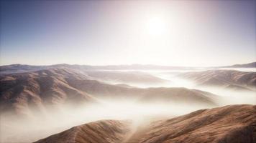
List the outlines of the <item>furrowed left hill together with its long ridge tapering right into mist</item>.
{"label": "furrowed left hill together with its long ridge tapering right into mist", "polygon": [[214,94],[186,88],[124,87],[106,84],[68,68],[43,69],[0,77],[1,113],[31,114],[63,105],[91,104],[99,98],[156,99],[197,104],[215,104]]}

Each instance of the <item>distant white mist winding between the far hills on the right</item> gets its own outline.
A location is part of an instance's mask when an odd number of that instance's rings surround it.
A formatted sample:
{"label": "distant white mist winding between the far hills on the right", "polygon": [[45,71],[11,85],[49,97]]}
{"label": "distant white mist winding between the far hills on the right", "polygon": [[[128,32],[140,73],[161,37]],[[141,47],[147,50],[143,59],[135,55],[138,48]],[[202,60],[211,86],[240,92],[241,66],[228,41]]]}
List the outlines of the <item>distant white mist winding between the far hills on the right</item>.
{"label": "distant white mist winding between the far hills on the right", "polygon": [[[255,71],[255,68],[223,68],[229,70],[238,70],[238,71]],[[110,82],[105,81],[109,84],[127,84],[131,87],[140,87],[140,88],[150,88],[150,87],[186,87],[188,89],[198,89],[204,92],[210,92],[216,94],[221,99],[218,101],[220,105],[227,104],[256,104],[256,91],[252,89],[251,91],[243,90],[233,90],[227,89],[218,86],[198,86],[196,82],[191,80],[178,77],[180,73],[185,73],[188,71],[204,71],[205,69],[194,69],[194,70],[140,70],[140,72],[145,72],[151,74],[152,76],[164,79],[163,83],[132,83],[132,82]],[[124,71],[125,72],[125,71]]]}

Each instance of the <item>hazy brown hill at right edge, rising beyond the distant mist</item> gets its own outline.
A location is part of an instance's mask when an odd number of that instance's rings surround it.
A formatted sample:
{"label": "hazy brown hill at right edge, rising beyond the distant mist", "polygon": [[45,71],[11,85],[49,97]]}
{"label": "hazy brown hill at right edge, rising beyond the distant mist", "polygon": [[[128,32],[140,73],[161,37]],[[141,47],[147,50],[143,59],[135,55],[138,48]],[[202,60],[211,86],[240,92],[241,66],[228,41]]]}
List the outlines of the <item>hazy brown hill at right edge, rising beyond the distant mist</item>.
{"label": "hazy brown hill at right edge, rising beyond the distant mist", "polygon": [[243,88],[256,88],[256,72],[234,70],[209,70],[179,74],[179,77],[191,79],[201,86],[236,86]]}

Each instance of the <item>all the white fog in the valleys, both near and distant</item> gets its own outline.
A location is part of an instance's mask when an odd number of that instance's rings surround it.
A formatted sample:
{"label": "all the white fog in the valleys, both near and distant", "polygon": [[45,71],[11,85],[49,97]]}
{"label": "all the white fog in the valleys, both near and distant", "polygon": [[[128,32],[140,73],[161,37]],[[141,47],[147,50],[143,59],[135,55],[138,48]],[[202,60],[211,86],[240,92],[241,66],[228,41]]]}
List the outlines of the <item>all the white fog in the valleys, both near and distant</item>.
{"label": "all the white fog in the valleys, both near and distant", "polygon": [[[202,69],[196,69],[196,71],[200,70]],[[16,117],[14,114],[2,115],[0,120],[1,142],[35,142],[70,127],[101,119],[129,119],[136,124],[140,124],[148,119],[168,119],[198,109],[221,107],[229,104],[256,104],[255,91],[242,92],[220,87],[198,87],[196,83],[176,76],[186,71],[141,71],[165,79],[167,82],[163,84],[105,82],[109,84],[128,84],[140,88],[186,87],[188,89],[199,89],[216,95],[216,97],[215,95],[213,97],[217,103],[215,106],[178,102],[168,102],[168,104],[159,102],[141,103],[128,98],[99,98],[100,104],[83,104],[79,107],[62,106],[56,111],[47,110],[45,114],[32,114],[25,118]]]}

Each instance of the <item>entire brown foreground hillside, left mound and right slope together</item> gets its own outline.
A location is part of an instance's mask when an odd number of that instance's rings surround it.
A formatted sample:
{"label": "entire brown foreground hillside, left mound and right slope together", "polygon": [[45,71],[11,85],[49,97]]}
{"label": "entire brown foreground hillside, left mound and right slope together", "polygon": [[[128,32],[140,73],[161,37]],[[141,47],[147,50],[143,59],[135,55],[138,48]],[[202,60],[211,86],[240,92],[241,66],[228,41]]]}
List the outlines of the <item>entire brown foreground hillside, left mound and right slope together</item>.
{"label": "entire brown foreground hillside, left mound and right slope together", "polygon": [[[93,122],[40,139],[37,143],[253,143],[256,141],[255,113],[256,106],[252,105],[201,109],[173,119],[163,119],[147,125],[139,125],[135,131],[132,131],[132,126],[120,124],[117,121],[112,121],[111,124],[109,121]],[[117,124],[119,125],[116,129]]]}

